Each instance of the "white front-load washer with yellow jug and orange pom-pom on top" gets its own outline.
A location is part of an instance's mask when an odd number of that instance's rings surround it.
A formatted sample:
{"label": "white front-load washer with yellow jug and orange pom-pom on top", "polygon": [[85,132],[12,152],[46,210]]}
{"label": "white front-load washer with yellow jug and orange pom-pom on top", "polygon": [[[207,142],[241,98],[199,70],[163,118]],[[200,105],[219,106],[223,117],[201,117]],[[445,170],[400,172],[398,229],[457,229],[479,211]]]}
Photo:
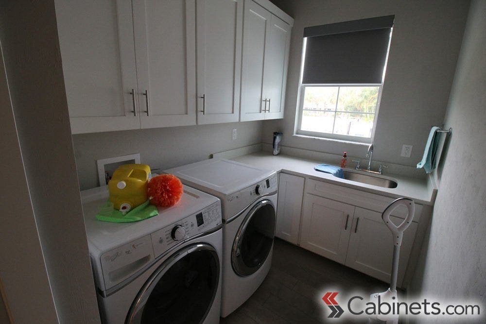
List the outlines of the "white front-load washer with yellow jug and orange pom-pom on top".
{"label": "white front-load washer with yellow jug and orange pom-pom on top", "polygon": [[181,201],[130,223],[97,221],[106,186],[81,192],[102,321],[219,323],[221,203],[184,186]]}

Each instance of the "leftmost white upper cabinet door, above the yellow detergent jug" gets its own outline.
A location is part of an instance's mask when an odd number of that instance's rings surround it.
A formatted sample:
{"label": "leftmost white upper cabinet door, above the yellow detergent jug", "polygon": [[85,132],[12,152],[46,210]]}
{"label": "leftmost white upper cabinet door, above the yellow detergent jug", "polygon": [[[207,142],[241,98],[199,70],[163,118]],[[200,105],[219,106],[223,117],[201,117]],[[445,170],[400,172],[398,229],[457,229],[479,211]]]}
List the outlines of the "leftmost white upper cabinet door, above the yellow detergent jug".
{"label": "leftmost white upper cabinet door, above the yellow detergent jug", "polygon": [[131,1],[56,0],[55,8],[71,132],[139,128]]}

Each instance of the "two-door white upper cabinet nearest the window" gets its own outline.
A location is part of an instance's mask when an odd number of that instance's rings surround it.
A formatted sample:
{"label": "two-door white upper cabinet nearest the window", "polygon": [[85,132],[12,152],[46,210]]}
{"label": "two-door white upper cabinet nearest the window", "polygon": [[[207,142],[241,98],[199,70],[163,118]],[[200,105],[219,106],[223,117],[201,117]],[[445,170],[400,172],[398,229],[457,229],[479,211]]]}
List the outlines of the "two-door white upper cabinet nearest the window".
{"label": "two-door white upper cabinet nearest the window", "polygon": [[245,1],[241,121],[283,118],[290,32],[289,24]]}

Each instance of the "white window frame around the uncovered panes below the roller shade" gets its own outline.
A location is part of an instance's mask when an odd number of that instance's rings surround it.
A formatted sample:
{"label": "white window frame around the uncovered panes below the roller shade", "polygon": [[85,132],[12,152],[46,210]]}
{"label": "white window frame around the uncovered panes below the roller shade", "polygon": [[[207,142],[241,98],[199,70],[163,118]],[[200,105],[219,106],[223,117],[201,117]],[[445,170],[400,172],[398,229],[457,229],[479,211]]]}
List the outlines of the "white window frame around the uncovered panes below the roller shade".
{"label": "white window frame around the uncovered panes below the roller shade", "polygon": [[[375,107],[375,112],[373,113],[374,118],[373,118],[373,129],[371,130],[371,136],[370,137],[361,137],[361,136],[351,136],[351,135],[342,135],[342,134],[332,134],[332,133],[324,133],[324,132],[312,132],[312,131],[305,131],[302,130],[302,116],[304,113],[304,97],[305,97],[305,89],[306,87],[351,87],[351,86],[378,86],[378,99],[376,101],[376,107]],[[318,137],[318,138],[323,138],[323,139],[330,139],[330,140],[341,140],[341,141],[348,141],[348,142],[357,142],[357,143],[372,143],[373,138],[375,136],[375,130],[376,130],[376,122],[378,120],[378,110],[380,107],[380,102],[382,99],[382,89],[383,89],[383,83],[380,84],[300,84],[299,85],[299,102],[297,106],[297,122],[295,127],[295,135],[301,135],[301,136],[310,136],[310,137]],[[339,95],[336,100],[336,105],[337,101],[339,100]],[[350,113],[349,111],[339,111],[336,110],[330,111],[334,112],[335,114],[338,112],[344,112],[344,113]],[[358,112],[359,113],[359,112]],[[361,114],[361,113],[360,113]],[[368,113],[371,114],[371,113]],[[335,118],[335,116],[334,116]]]}

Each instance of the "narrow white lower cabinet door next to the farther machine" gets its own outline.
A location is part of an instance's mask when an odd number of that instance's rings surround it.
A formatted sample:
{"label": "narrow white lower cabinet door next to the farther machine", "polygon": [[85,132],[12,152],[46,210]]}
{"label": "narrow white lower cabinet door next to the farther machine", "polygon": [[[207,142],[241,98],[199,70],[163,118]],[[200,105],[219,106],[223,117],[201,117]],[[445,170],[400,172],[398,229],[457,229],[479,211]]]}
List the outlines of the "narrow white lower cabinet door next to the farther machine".
{"label": "narrow white lower cabinet door next to the farther machine", "polygon": [[297,244],[299,236],[303,194],[303,177],[280,173],[275,235],[294,244]]}

